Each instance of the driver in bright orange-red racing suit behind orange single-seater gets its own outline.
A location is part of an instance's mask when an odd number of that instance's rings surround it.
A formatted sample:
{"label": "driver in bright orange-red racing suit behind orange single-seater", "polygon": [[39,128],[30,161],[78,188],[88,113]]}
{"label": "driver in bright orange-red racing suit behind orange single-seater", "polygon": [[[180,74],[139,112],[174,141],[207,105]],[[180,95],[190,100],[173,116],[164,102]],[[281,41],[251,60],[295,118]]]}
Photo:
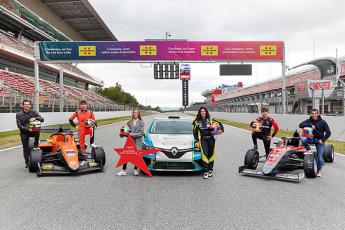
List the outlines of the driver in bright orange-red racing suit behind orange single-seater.
{"label": "driver in bright orange-red racing suit behind orange single-seater", "polygon": [[[73,121],[75,118],[78,119],[78,126]],[[85,153],[85,136],[90,135],[90,145],[92,145],[95,141],[95,128],[97,126],[95,115],[92,110],[88,109],[85,100],[80,101],[80,109],[70,116],[69,123],[78,129],[80,148],[82,153]]]}

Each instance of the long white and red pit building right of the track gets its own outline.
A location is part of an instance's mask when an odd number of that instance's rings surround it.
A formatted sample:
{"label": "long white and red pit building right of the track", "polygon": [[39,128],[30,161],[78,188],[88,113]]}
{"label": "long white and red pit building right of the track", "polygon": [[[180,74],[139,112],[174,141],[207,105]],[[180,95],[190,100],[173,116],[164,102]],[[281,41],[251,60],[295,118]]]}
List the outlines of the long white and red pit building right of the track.
{"label": "long white and red pit building right of the track", "polygon": [[[321,58],[308,63],[319,63],[320,65],[309,65],[305,63],[302,67],[296,68],[287,73],[286,78],[286,101],[287,113],[306,114],[314,106],[322,111],[322,98],[320,92],[313,96],[310,87],[313,82],[319,80],[332,79],[338,74],[339,79],[335,79],[330,85],[329,91],[325,90],[324,114],[343,115],[344,114],[344,81],[345,81],[345,57],[338,58],[334,64],[329,60],[335,58]],[[335,63],[333,62],[333,63]],[[237,87],[232,90],[218,87],[213,90],[206,90],[202,93],[205,97],[203,103],[193,104],[189,110],[196,110],[203,105],[213,111],[257,113],[261,107],[268,107],[271,113],[282,112],[282,78],[262,82],[248,87]],[[314,103],[313,103],[314,101]]]}

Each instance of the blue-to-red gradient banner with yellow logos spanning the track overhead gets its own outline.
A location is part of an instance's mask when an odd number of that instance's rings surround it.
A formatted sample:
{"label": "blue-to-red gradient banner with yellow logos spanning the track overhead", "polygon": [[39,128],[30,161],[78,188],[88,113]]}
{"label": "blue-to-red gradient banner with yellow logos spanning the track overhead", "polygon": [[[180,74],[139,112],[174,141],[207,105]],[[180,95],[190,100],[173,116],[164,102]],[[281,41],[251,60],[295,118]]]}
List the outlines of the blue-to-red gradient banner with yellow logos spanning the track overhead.
{"label": "blue-to-red gradient banner with yellow logos spanning the track overhead", "polygon": [[277,61],[280,41],[38,42],[39,61]]}

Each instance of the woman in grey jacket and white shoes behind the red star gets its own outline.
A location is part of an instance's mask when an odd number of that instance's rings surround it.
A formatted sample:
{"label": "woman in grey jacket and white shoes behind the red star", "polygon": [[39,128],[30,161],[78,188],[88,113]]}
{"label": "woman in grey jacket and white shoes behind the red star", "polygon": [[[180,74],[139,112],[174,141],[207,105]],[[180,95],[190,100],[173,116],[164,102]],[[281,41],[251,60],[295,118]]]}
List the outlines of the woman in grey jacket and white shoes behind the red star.
{"label": "woman in grey jacket and white shoes behind the red star", "polygon": [[[141,119],[139,109],[134,109],[132,111],[132,119],[127,122],[127,126],[129,127],[130,133],[129,135],[133,138],[133,141],[137,147],[137,149],[141,149],[143,145],[143,136],[144,136],[144,126],[145,123]],[[127,164],[122,166],[122,170],[117,173],[118,176],[126,176],[126,169]],[[137,167],[134,167],[134,175],[139,176],[139,170]]]}

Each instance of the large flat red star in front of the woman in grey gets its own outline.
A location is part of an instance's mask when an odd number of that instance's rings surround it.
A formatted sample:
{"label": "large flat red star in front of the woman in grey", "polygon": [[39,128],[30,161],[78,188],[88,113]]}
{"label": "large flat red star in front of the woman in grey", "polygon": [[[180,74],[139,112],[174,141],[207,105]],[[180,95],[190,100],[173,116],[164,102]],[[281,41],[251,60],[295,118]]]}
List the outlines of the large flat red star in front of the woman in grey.
{"label": "large flat red star in front of the woman in grey", "polygon": [[116,168],[126,163],[132,163],[133,165],[137,166],[141,171],[146,173],[148,176],[152,176],[149,168],[145,164],[143,156],[151,153],[156,153],[158,152],[157,149],[137,149],[132,137],[128,136],[125,146],[123,148],[115,148],[114,150],[120,155],[120,159],[117,162]]}

